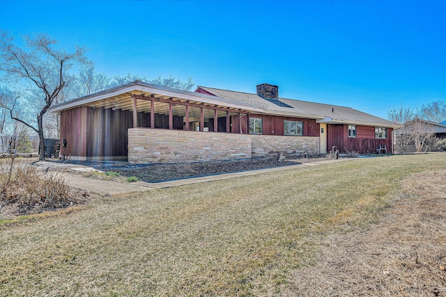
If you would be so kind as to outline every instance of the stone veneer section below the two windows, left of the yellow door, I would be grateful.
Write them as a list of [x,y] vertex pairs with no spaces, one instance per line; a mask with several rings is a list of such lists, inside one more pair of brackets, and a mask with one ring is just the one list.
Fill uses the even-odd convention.
[[313,136],[253,135],[252,156],[286,153],[319,153],[319,138]]

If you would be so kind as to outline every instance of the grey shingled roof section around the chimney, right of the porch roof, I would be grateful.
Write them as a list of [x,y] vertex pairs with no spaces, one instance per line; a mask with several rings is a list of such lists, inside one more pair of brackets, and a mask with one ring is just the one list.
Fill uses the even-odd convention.
[[199,88],[220,98],[256,106],[259,109],[263,109],[262,113],[267,114],[289,115],[301,118],[316,118],[317,122],[330,124],[401,127],[401,125],[397,125],[396,123],[390,122],[389,120],[378,118],[375,115],[363,113],[362,111],[357,111],[356,109],[351,109],[350,107],[279,98],[278,100],[280,102],[291,106],[284,107],[272,103],[270,99],[266,100],[263,97],[252,93],[221,90],[204,86],[197,87],[197,90]]

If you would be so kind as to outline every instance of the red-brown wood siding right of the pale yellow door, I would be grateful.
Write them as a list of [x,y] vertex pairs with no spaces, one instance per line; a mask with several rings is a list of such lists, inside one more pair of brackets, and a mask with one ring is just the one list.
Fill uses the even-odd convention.
[[380,145],[392,150],[392,128],[387,128],[387,138],[375,138],[375,127],[356,126],[357,137],[348,137],[348,125],[328,125],[327,149],[335,145],[340,152],[376,153]]

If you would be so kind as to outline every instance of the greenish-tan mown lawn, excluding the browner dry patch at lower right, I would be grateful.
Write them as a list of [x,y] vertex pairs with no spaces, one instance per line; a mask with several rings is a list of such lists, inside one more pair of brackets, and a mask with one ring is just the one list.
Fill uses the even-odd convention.
[[418,198],[408,179],[444,168],[385,156],[95,197],[0,225],[0,295],[298,296],[321,239],[372,228]]

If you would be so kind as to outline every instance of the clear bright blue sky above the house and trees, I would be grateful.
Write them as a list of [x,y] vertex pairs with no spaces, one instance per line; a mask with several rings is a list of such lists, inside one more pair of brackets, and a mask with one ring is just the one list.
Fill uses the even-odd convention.
[[446,1],[0,0],[0,27],[89,49],[95,70],[350,106],[446,99]]

